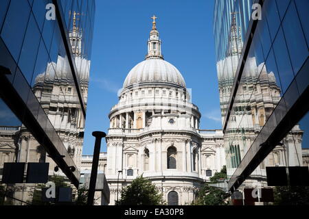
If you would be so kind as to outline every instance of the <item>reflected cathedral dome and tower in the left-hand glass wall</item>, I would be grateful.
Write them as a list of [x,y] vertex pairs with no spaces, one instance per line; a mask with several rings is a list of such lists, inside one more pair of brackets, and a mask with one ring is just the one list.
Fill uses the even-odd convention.
[[[73,12],[69,40],[78,69],[82,97],[84,103],[87,103],[90,61],[82,57],[82,30],[76,27],[76,20],[76,12]],[[33,91],[73,161],[80,168],[84,117],[65,55],[59,54],[56,63],[47,64],[46,73],[36,77]]]

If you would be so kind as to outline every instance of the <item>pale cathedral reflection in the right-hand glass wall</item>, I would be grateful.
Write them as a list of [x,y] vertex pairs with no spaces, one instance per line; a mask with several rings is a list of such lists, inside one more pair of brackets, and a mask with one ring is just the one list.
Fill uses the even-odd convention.
[[[242,23],[241,16],[243,14],[239,12],[231,13],[229,38],[226,44],[227,49],[220,48],[222,50],[217,51],[222,125],[225,125],[225,116],[231,96],[235,96],[233,108],[225,129],[225,155],[228,177],[231,177],[236,168],[238,168],[282,97],[282,89],[279,85],[276,70],[261,58],[263,57],[262,49],[255,49],[254,51],[251,49],[249,51],[249,56],[244,64],[244,70],[240,79],[240,86],[237,93],[231,95],[234,83],[236,83],[235,80],[237,79],[236,72],[239,67],[240,55],[242,55],[243,39],[246,30],[244,29],[243,31],[242,25],[240,25]],[[268,130],[271,130],[271,128],[269,127]],[[295,125],[286,138],[282,140],[282,144],[276,146],[264,159],[264,162],[255,169],[245,185],[262,185],[263,183],[265,185],[266,166],[297,166],[302,164],[302,135],[303,131],[299,129],[298,125]],[[254,180],[250,181],[250,179]]]

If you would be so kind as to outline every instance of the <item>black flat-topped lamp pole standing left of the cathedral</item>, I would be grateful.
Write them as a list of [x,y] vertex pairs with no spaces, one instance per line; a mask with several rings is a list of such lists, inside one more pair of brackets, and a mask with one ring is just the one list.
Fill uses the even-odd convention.
[[98,165],[100,158],[100,148],[101,148],[101,140],[106,137],[106,133],[102,131],[93,131],[92,136],[95,137],[95,148],[93,150],[93,160],[92,160],[92,168],[91,168],[91,177],[89,182],[89,191],[88,191],[88,199],[87,205],[93,205],[93,199],[95,194],[95,184],[97,182],[98,176]]

